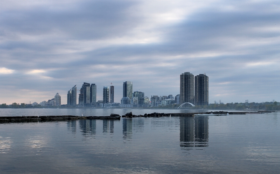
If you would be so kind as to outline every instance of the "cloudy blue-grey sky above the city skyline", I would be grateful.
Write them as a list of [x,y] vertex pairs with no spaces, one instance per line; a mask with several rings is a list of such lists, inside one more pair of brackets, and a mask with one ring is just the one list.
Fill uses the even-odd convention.
[[0,103],[67,104],[83,82],[176,96],[184,72],[209,103],[280,101],[279,21],[279,0],[1,0]]

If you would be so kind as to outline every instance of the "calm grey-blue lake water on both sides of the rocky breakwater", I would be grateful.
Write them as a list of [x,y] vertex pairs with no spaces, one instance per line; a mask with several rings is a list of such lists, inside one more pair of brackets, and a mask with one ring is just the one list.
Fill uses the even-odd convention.
[[[0,109],[0,116],[197,112]],[[279,173],[280,113],[0,124],[0,173]]]

